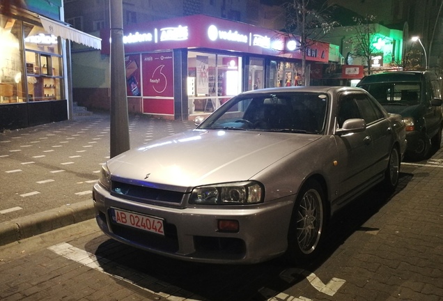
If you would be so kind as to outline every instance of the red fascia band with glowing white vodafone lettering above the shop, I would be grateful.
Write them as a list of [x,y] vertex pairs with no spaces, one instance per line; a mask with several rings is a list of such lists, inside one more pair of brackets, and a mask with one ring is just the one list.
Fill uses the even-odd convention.
[[[288,38],[284,33],[206,15],[134,24],[125,26],[124,31],[126,53],[208,48],[302,58],[295,38]],[[102,30],[100,36],[102,53],[109,54],[109,29]],[[327,63],[329,43],[313,43],[306,51],[306,59]]]

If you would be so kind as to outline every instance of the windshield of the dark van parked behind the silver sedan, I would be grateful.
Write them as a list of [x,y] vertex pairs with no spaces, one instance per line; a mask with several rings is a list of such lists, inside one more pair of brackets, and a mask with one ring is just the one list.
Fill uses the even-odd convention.
[[420,103],[418,82],[366,84],[362,88],[371,93],[381,105],[410,106]]

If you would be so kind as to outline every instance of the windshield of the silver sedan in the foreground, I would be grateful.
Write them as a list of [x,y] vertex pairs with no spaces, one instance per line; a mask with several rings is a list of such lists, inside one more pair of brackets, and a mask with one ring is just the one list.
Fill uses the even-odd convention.
[[257,130],[318,134],[325,128],[324,93],[257,93],[232,98],[200,129]]

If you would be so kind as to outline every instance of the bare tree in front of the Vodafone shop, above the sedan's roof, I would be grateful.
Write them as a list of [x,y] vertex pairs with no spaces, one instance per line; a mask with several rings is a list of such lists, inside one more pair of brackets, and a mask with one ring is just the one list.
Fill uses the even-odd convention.
[[302,53],[302,80],[306,84],[306,52],[334,27],[338,22],[331,21],[332,6],[320,0],[291,0],[283,4],[286,10],[286,32],[297,40]]

